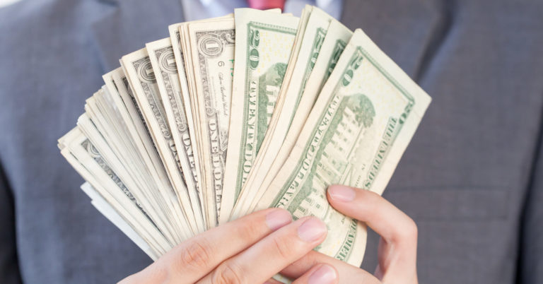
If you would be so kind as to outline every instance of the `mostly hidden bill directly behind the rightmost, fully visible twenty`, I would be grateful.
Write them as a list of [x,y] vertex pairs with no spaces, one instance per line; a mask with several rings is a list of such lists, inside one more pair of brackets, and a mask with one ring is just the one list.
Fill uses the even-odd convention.
[[[262,182],[259,182],[261,180],[259,177],[255,177],[255,184],[259,184],[258,186],[254,185],[250,187],[247,184],[247,188],[258,189],[258,191],[255,196],[252,197],[252,200],[240,198],[240,200],[243,201],[250,201],[250,206],[247,206],[247,203],[244,204],[241,202],[236,204],[236,206],[243,206],[242,208],[244,210],[242,211],[242,214],[254,210],[257,202],[262,198],[264,191],[269,187],[277,172],[281,170],[281,167],[288,158],[288,154],[291,153],[291,150],[296,143],[296,139],[305,124],[305,120],[308,118],[311,108],[313,108],[313,105],[315,104],[317,95],[320,93],[320,90],[322,90],[322,85],[324,85],[328,76],[334,70],[337,61],[343,53],[347,42],[351,39],[353,32],[339,23],[339,21],[332,20],[326,32],[325,39],[322,42],[320,35],[322,35],[321,32],[315,35],[315,45],[312,46],[313,52],[309,63],[311,69],[310,76],[307,78],[307,81],[305,81],[305,85],[303,85],[303,95],[298,104],[296,114],[294,114],[292,119],[291,126],[288,129],[286,137],[281,144],[281,148],[279,149],[279,152],[276,153],[269,170],[267,170],[267,172],[262,170],[255,172],[255,175],[261,172],[265,174]],[[316,58],[315,55],[317,55]],[[306,68],[306,70],[308,69]],[[307,73],[307,71],[304,73],[305,76],[307,76]],[[304,80],[306,78],[305,76]]]

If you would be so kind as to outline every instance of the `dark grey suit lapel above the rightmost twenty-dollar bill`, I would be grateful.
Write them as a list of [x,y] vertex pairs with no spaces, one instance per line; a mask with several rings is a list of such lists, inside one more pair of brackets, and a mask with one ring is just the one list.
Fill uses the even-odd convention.
[[[341,21],[366,34],[411,78],[424,73],[450,20],[440,1],[344,0]],[[431,58],[430,58],[431,59]]]

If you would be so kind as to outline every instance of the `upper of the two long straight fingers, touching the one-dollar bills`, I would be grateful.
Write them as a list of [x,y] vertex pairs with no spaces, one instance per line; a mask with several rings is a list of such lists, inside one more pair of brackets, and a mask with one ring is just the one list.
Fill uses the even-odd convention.
[[194,283],[225,259],[242,252],[291,221],[291,214],[283,209],[271,208],[252,213],[187,239],[155,264],[125,280],[163,283],[176,279],[182,280],[182,283]]

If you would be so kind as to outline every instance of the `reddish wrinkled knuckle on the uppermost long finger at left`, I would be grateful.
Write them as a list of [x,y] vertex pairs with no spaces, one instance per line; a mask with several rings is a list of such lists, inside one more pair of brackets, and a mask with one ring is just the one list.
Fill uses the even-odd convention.
[[202,269],[211,261],[211,247],[205,239],[198,239],[183,247],[177,256],[177,267]]

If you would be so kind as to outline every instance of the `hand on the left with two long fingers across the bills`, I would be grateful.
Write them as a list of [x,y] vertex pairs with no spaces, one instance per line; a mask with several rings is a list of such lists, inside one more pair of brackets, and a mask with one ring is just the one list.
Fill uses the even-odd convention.
[[270,208],[187,239],[120,283],[263,283],[326,234],[317,218],[292,222],[288,211]]

